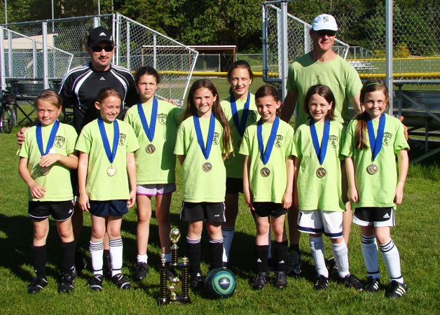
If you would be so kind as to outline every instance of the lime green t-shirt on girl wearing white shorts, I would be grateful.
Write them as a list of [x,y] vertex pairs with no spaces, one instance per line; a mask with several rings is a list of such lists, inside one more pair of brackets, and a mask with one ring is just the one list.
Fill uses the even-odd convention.
[[[324,123],[315,123],[319,146],[322,146]],[[344,211],[341,192],[341,147],[344,127],[330,122],[329,141],[324,163],[319,165],[310,134],[310,120],[299,126],[294,134],[294,155],[301,158],[297,188],[300,210]],[[326,174],[319,178],[316,170],[324,167]],[[344,174],[345,175],[345,174]]]

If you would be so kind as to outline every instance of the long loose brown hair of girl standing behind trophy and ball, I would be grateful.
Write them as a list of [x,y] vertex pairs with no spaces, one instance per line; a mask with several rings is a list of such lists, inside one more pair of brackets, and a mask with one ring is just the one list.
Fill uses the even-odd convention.
[[195,91],[203,87],[211,91],[212,95],[216,97],[214,104],[212,104],[212,113],[214,113],[214,117],[220,121],[220,125],[221,127],[223,127],[223,147],[226,155],[229,155],[229,153],[231,153],[231,143],[233,141],[231,127],[229,127],[228,120],[226,119],[225,114],[221,109],[219,93],[217,92],[214,83],[212,83],[210,80],[208,79],[196,80],[193,83],[193,85],[191,85],[191,88],[189,89],[188,92],[188,98],[186,99],[186,108],[184,111],[183,120],[191,116],[198,116],[197,109],[195,109],[195,104],[194,104],[194,94]]

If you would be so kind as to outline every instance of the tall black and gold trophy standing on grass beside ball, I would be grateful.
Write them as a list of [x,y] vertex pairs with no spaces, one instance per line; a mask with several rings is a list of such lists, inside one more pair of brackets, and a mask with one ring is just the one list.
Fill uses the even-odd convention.
[[[182,258],[179,262],[177,242],[180,239],[180,231],[178,228],[172,228],[170,231],[171,246],[171,263],[170,267],[174,270],[180,271],[180,277],[167,277],[167,265],[165,258],[160,260],[160,296],[158,297],[158,304],[171,303],[191,303],[189,297],[189,264],[188,258]],[[180,289],[180,295],[178,295]]]

